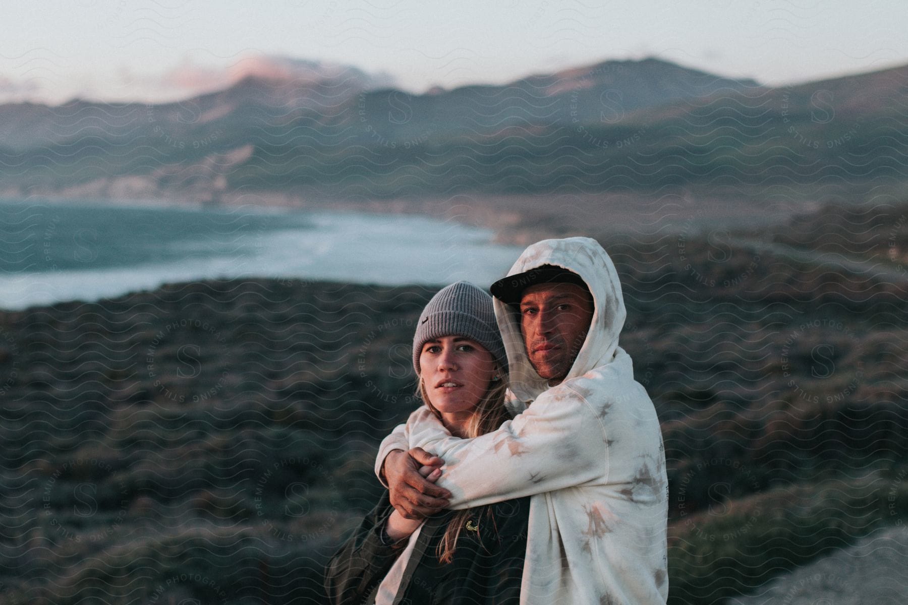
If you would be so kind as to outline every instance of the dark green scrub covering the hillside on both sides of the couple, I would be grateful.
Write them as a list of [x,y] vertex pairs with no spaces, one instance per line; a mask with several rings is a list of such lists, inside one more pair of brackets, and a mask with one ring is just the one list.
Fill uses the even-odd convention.
[[[607,242],[663,421],[673,605],[908,518],[905,280],[711,235]],[[0,605],[321,602],[417,405],[431,293],[212,281],[0,315]]]

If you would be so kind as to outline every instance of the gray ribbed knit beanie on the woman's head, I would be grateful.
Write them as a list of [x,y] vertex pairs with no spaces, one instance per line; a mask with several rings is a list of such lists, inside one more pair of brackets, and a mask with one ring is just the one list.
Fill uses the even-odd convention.
[[508,371],[508,357],[495,320],[492,297],[469,281],[441,288],[422,309],[413,335],[416,376],[419,376],[419,354],[426,341],[451,336],[467,337],[485,346],[501,370]]

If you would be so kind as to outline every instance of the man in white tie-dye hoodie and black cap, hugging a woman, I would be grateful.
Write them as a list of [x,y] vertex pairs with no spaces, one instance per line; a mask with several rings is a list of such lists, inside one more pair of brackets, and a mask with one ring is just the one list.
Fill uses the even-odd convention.
[[[521,602],[664,603],[665,452],[618,346],[615,266],[593,239],[547,239],[491,291],[519,414],[458,439],[420,407],[381,444],[391,503],[416,518],[532,495]],[[442,460],[437,485],[414,476]]]

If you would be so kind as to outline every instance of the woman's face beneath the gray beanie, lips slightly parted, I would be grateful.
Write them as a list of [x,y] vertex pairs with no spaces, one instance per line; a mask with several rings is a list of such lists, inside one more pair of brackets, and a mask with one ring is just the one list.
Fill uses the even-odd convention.
[[419,354],[419,377],[442,415],[472,412],[495,376],[492,354],[465,337],[429,340]]

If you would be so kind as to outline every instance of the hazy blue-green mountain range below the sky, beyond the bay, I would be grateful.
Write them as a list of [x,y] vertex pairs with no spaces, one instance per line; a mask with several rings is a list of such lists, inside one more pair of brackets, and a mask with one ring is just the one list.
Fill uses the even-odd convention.
[[902,180],[908,65],[768,87],[655,58],[410,94],[359,70],[164,104],[0,106],[7,195],[337,197]]

